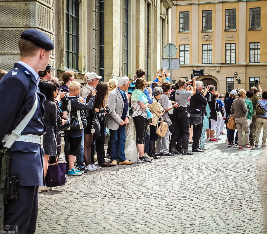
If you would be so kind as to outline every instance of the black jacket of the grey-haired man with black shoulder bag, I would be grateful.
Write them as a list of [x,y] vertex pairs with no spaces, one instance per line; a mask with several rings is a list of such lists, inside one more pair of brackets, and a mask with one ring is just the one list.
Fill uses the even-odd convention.
[[208,101],[201,92],[198,90],[190,99],[190,114],[199,114],[205,115],[206,105]]

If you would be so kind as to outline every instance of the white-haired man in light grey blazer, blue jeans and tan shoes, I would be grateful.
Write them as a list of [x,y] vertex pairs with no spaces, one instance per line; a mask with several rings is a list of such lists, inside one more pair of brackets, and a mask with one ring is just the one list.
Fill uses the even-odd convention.
[[118,87],[111,91],[108,96],[108,107],[111,111],[106,117],[106,126],[109,129],[109,141],[111,152],[111,164],[133,164],[126,160],[125,149],[125,124],[129,123],[129,99],[126,91],[130,85],[128,77],[118,79]]

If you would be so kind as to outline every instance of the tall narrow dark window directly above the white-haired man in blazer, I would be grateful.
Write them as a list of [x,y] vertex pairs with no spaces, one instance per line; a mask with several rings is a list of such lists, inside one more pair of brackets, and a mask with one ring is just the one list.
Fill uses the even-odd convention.
[[123,73],[128,76],[128,30],[129,30],[129,0],[124,0],[124,58],[123,58]]

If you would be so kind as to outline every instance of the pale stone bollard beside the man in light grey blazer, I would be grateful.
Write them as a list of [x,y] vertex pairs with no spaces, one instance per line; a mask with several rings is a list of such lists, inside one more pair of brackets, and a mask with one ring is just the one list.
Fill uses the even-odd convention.
[[136,146],[135,123],[131,115],[129,116],[129,124],[126,125],[125,131],[125,157],[131,162],[137,162],[139,155]]

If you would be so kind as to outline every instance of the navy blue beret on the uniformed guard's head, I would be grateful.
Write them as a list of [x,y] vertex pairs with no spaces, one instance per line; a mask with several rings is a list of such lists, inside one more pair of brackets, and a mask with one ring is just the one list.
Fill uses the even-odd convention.
[[24,31],[21,34],[20,38],[32,41],[33,43],[44,48],[45,50],[54,49],[53,42],[50,40],[50,38],[45,33],[36,29],[28,29]]

